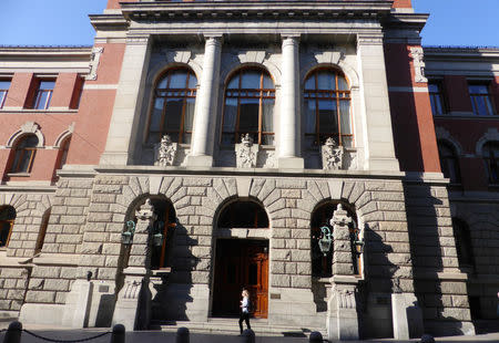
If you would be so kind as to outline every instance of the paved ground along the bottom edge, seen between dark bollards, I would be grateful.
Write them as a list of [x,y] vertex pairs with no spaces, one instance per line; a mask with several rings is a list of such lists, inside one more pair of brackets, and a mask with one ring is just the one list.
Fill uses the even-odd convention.
[[[55,339],[55,340],[79,340],[85,337],[92,337],[100,333],[110,331],[109,329],[84,329],[84,330],[54,330],[54,329],[41,329],[28,326],[28,330],[34,332],[38,335]],[[0,342],[3,342],[4,333],[0,333]],[[105,336],[91,340],[88,342],[91,343],[109,343],[111,339],[111,334]],[[452,336],[452,337],[437,337],[437,342],[499,342],[499,333],[491,333],[485,335],[476,335],[476,336]],[[37,339],[30,335],[27,332],[22,333],[21,343],[41,343],[43,340]],[[159,332],[159,331],[141,331],[141,332],[128,332],[126,333],[126,343],[174,343],[175,342],[175,333],[171,332]],[[214,334],[200,334],[193,333],[191,334],[191,343],[237,343],[241,342],[241,337],[235,335],[214,335]],[[307,337],[259,337],[257,336],[255,343],[306,343],[308,342]],[[339,342],[339,341],[337,341]],[[410,341],[396,341],[396,340],[366,340],[366,341],[344,341],[349,343],[359,343],[359,342],[419,342],[419,340],[410,340]]]

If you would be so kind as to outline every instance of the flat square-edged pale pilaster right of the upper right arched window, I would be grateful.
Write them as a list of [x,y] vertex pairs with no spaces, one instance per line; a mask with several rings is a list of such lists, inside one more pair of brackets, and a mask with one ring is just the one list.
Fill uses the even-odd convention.
[[357,56],[364,98],[365,168],[399,172],[395,157],[383,34],[358,35]]

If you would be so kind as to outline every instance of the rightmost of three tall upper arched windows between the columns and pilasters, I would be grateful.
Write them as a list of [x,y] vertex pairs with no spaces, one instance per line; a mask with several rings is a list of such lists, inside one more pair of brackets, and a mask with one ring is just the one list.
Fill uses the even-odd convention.
[[305,80],[305,144],[313,147],[334,137],[339,145],[353,146],[350,91],[336,70],[318,69]]

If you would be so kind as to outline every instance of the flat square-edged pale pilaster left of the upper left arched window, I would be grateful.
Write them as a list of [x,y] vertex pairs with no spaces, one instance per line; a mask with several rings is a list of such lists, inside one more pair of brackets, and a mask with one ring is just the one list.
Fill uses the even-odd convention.
[[150,54],[150,37],[128,39],[101,165],[122,166],[132,162]]

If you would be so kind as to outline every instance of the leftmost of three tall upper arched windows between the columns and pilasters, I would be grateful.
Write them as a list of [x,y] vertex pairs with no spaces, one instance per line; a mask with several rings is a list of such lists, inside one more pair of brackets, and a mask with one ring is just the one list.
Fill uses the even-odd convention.
[[159,143],[163,135],[191,143],[196,85],[196,76],[186,67],[170,69],[162,75],[154,89],[147,143]]

